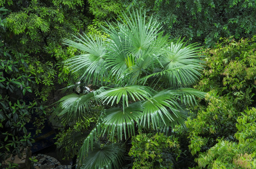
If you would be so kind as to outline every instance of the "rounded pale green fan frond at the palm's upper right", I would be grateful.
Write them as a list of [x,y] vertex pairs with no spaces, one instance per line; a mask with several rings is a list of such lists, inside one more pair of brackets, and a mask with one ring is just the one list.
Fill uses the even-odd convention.
[[202,61],[199,58],[201,54],[200,46],[197,43],[184,46],[184,39],[178,39],[176,43],[171,42],[170,46],[166,47],[166,53],[160,55],[159,60],[163,65],[163,70],[177,68],[174,72],[165,74],[170,86],[191,85],[195,83],[200,76],[199,70],[202,69]]

